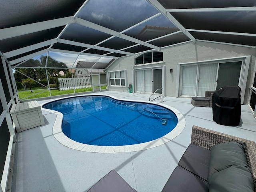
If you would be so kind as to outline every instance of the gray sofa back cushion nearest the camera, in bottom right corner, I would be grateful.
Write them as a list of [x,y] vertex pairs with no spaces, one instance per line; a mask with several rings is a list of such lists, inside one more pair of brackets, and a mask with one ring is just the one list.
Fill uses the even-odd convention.
[[209,192],[254,192],[248,167],[231,166],[209,177]]

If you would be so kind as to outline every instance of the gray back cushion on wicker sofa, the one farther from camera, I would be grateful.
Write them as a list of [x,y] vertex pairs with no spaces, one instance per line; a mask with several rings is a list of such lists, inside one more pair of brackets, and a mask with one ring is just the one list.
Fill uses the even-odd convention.
[[248,166],[242,143],[226,142],[211,148],[209,176],[235,165]]

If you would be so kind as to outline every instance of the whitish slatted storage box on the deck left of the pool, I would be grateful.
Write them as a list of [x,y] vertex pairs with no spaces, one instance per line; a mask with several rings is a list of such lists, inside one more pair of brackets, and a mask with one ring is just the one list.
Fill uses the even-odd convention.
[[44,125],[44,116],[37,101],[14,104],[10,114],[17,132]]

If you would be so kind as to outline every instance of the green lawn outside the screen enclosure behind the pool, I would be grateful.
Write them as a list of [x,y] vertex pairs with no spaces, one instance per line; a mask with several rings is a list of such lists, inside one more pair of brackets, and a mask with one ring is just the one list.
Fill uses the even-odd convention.
[[[101,86],[101,89],[106,89],[107,86]],[[44,91],[44,92],[42,92]],[[76,89],[76,93],[79,92],[87,92],[87,91],[92,91],[92,87],[90,88],[81,88],[81,89]],[[41,92],[41,93],[40,93]],[[56,96],[56,95],[64,95],[64,94],[72,94],[74,93],[74,90],[63,90],[63,91],[59,91],[57,89],[52,89],[51,90],[51,94],[52,96]],[[30,92],[30,90],[27,91],[18,91],[19,94],[19,98],[22,100],[24,98],[24,100],[26,99],[34,99],[34,98],[40,98],[40,97],[49,97],[50,96],[50,92],[47,89],[41,89],[41,90],[32,90],[32,93]]]

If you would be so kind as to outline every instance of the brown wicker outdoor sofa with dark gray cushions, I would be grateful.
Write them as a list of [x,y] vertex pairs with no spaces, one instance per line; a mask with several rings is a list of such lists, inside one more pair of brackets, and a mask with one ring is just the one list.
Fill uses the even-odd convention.
[[[233,157],[219,155],[216,160],[216,150],[221,146],[226,153],[227,145],[243,146],[239,155],[244,156],[245,164],[232,164]],[[226,148],[223,148],[225,146]],[[224,150],[223,150],[224,149]],[[232,153],[236,150],[232,148]],[[239,150],[238,150],[239,151]],[[214,154],[215,152],[215,154]],[[221,153],[220,153],[221,154]],[[215,155],[215,156],[214,156]],[[214,160],[213,160],[214,159]],[[227,161],[222,161],[226,159]],[[240,161],[242,158],[235,159]],[[242,161],[242,160],[241,160]],[[227,163],[224,168],[222,164]],[[231,164],[230,164],[231,163]],[[242,162],[244,163],[244,162]],[[214,173],[209,175],[213,170]],[[240,173],[242,172],[242,173]],[[245,174],[244,174],[245,173]],[[192,126],[191,144],[186,149],[178,166],[172,172],[162,192],[256,192],[256,143],[243,138]]]

